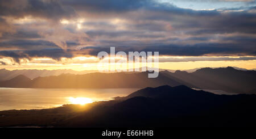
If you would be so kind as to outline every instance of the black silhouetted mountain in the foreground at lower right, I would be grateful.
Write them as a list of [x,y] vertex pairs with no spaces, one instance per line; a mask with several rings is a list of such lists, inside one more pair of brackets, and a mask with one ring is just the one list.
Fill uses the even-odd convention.
[[147,87],[102,103],[60,127],[240,127],[256,124],[256,95],[216,95],[186,86]]

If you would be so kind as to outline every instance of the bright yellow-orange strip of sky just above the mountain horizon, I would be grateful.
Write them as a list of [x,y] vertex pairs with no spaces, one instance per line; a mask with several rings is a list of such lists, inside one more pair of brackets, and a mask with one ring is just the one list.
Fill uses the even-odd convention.
[[[172,57],[173,58],[173,57]],[[172,60],[182,61],[186,57],[175,57]],[[161,58],[160,58],[161,60]],[[35,58],[34,60],[23,60],[20,64],[11,63],[11,60],[3,60],[7,65],[0,65],[0,68],[9,70],[15,69],[72,69],[72,70],[98,70],[98,60],[96,57],[76,57],[63,58],[61,61],[55,61],[51,58]],[[10,62],[10,63],[9,63]],[[9,63],[9,64],[8,64]],[[109,64],[110,65],[110,64]],[[256,69],[256,60],[230,60],[230,61],[185,61],[185,62],[159,62],[160,69],[187,70],[204,67],[226,67],[236,66],[238,68]]]

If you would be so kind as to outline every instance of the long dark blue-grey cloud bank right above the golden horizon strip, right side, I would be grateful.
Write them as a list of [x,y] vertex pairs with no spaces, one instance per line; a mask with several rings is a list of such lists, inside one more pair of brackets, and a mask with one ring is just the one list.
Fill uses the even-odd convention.
[[[89,54],[97,56],[98,52],[105,51],[110,53],[110,48],[107,47],[85,47]],[[193,45],[155,45],[147,47],[115,47],[116,52],[124,51],[144,51],[144,52],[159,52],[160,55],[171,56],[256,56],[256,48],[242,48],[240,45],[230,43],[199,43]]]

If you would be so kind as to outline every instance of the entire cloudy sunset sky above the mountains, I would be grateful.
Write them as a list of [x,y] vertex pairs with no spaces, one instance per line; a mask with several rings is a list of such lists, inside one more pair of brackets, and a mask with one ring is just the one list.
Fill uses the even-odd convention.
[[159,68],[256,69],[253,0],[0,0],[0,68],[96,70],[97,53],[159,52]]

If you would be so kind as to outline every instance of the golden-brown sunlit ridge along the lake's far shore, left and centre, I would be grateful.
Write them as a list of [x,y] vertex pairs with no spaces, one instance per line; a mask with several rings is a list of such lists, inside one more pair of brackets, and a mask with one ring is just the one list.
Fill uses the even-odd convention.
[[[23,83],[22,87],[32,88],[122,88],[181,85],[160,74],[158,78],[147,78],[148,73],[89,73],[84,75],[61,74],[59,76],[38,77]],[[1,87],[16,87],[9,81],[0,82]],[[22,79],[20,79],[22,81]],[[19,82],[15,82],[19,84]]]

